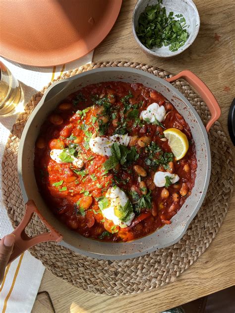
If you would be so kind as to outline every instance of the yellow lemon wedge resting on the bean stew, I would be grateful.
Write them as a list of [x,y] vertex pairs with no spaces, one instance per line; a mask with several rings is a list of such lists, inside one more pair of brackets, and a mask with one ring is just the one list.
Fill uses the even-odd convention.
[[176,161],[182,159],[188,151],[186,135],[177,128],[168,128],[163,133],[168,139],[168,144],[176,157]]

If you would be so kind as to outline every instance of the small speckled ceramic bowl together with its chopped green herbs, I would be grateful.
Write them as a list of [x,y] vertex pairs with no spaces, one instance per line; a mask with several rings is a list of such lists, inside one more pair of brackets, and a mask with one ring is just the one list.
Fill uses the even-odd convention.
[[132,32],[141,49],[169,58],[186,50],[196,39],[200,17],[193,0],[138,0]]

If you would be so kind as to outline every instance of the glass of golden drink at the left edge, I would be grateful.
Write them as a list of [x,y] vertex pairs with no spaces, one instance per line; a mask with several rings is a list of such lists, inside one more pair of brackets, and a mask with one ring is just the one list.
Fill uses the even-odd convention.
[[17,79],[0,62],[0,116],[12,115],[23,109],[23,92]]

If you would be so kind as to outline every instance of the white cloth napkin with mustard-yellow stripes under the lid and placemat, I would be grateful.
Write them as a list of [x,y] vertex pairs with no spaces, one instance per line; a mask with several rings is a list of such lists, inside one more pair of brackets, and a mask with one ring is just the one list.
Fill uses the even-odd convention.
[[[62,64],[50,68],[31,67],[7,61],[0,57],[12,72],[13,76],[21,82],[25,103],[38,90],[41,90],[51,80],[57,78],[64,71],[91,63],[93,51],[69,64]],[[15,123],[17,115],[0,117],[0,162],[5,143],[10,130]],[[6,209],[2,202],[1,175],[0,175],[0,238],[13,230]],[[0,286],[0,313],[30,313],[37,296],[45,267],[28,251],[7,266],[4,280]]]

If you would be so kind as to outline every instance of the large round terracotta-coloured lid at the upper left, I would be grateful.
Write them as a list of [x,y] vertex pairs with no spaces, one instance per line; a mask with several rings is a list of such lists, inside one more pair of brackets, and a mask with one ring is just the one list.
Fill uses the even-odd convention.
[[0,55],[34,66],[74,61],[113,27],[122,0],[1,0]]

